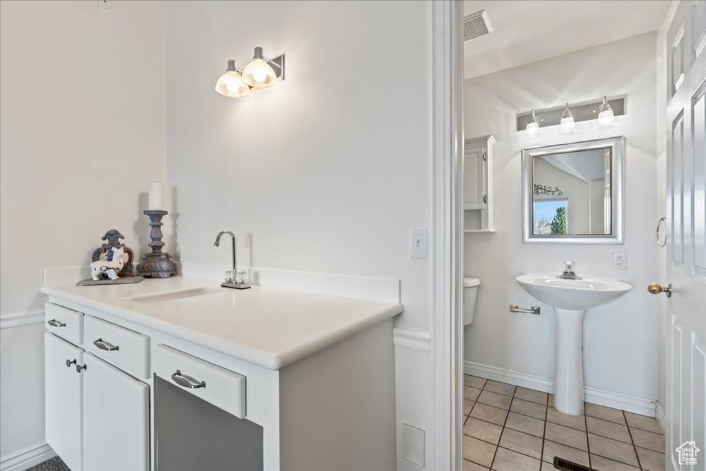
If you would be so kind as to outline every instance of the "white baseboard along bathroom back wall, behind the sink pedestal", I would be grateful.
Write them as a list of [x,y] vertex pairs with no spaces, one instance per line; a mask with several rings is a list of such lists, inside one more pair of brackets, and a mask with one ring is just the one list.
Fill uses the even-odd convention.
[[[492,379],[493,381],[514,384],[515,386],[522,386],[522,388],[541,390],[545,393],[554,393],[554,380],[552,378],[534,376],[533,374],[525,374],[518,371],[511,371],[508,369],[498,368],[496,366],[488,366],[468,361],[464,362],[464,364],[464,371],[466,374]],[[587,403],[613,407],[614,409],[633,412],[640,415],[647,415],[648,417],[654,417],[655,415],[656,401],[638,398],[633,395],[616,393],[614,391],[599,388],[585,387],[584,399]]]

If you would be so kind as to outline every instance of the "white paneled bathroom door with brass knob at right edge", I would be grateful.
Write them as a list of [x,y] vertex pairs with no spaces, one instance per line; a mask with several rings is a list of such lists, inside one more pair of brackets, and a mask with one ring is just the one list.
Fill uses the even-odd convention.
[[[667,470],[706,469],[705,31],[706,2],[682,1],[666,36]],[[677,451],[686,442],[700,450],[696,464]]]

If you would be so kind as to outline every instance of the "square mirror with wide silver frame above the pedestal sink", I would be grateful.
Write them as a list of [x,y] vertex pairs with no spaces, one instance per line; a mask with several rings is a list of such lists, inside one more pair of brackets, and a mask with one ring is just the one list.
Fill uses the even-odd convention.
[[522,242],[623,244],[625,137],[522,150]]

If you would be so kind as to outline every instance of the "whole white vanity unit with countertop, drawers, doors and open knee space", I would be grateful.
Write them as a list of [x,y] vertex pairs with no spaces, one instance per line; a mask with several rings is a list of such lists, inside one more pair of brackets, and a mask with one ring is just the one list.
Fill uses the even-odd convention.
[[174,278],[42,289],[47,443],[72,471],[395,468],[400,304],[258,286],[197,310],[136,301],[203,289]]

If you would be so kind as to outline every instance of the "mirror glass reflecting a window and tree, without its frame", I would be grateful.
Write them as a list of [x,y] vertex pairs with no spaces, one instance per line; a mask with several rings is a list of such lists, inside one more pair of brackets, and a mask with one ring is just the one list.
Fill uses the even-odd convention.
[[611,148],[532,158],[532,234],[611,234]]

